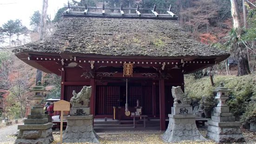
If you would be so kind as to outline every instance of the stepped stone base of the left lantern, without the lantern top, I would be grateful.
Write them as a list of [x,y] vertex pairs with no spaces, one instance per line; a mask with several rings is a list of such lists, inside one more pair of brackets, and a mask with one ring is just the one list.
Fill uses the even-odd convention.
[[18,125],[20,131],[14,144],[50,144],[53,142],[52,127],[43,108],[32,108],[24,124]]

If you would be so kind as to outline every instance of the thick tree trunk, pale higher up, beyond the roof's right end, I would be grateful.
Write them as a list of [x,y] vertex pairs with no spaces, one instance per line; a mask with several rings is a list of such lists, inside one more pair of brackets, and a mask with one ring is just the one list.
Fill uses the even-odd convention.
[[233,46],[238,50],[238,72],[239,75],[246,75],[250,73],[249,61],[247,57],[247,48],[245,46],[237,44],[237,41],[241,39],[243,29],[241,26],[240,15],[237,6],[237,0],[230,0],[231,2],[231,14],[233,17],[233,27],[236,30],[236,40],[233,41]]

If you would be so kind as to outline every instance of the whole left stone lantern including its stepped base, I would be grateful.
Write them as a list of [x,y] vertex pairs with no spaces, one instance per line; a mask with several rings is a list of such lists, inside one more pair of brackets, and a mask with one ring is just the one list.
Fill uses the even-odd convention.
[[30,115],[24,119],[24,124],[18,125],[19,134],[14,144],[50,144],[53,142],[53,123],[48,123],[48,116],[44,114],[41,101],[44,99],[45,87],[41,85],[33,86],[29,91],[34,92],[35,101],[31,108]]

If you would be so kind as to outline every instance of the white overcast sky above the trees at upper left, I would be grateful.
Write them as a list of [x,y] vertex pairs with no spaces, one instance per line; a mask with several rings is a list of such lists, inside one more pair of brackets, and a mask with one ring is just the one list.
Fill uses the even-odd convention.
[[[68,0],[48,0],[47,14],[53,20],[58,9]],[[13,4],[11,4],[13,3]],[[41,13],[43,0],[0,0],[0,26],[8,20],[22,20],[22,24],[30,28],[30,17],[34,11]]]

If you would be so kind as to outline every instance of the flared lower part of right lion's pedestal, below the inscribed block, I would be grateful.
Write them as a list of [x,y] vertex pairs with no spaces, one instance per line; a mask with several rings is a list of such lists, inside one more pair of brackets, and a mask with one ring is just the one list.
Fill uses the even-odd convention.
[[197,130],[195,116],[193,118],[175,118],[175,115],[169,115],[169,124],[167,130],[164,132],[163,140],[164,142],[170,143],[184,140],[205,141],[206,139]]

